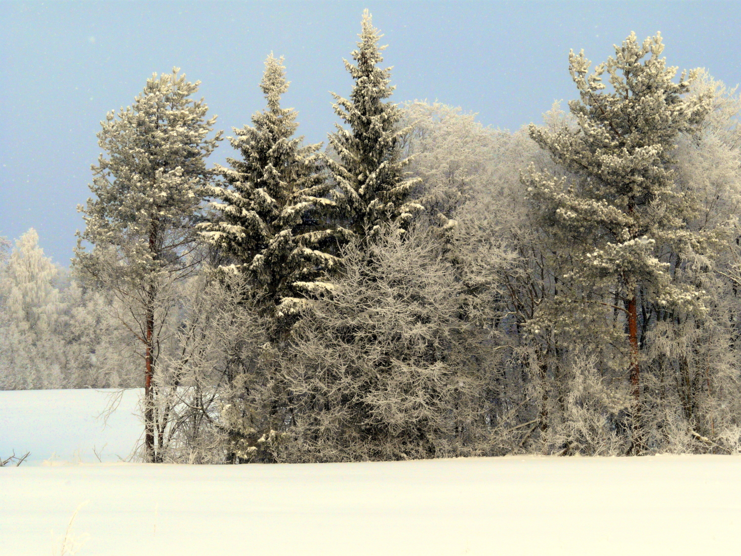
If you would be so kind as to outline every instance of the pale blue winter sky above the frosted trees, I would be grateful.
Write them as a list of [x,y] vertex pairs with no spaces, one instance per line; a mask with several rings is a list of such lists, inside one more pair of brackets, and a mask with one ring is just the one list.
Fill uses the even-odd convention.
[[[265,106],[265,58],[285,56],[282,105],[299,110],[299,134],[326,144],[338,121],[329,92],[350,92],[342,59],[364,8],[388,44],[393,101],[437,100],[494,128],[540,122],[554,100],[575,98],[569,50],[597,64],[631,31],[660,31],[680,71],[741,82],[737,1],[1,0],[0,236],[36,228],[44,253],[69,265],[101,120],[174,66],[202,82],[228,136]],[[227,156],[224,141],[208,164]]]

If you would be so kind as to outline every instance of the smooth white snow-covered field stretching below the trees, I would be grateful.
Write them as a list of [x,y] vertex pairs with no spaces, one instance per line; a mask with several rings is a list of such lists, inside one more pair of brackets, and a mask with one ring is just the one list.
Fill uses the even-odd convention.
[[0,469],[0,555],[59,555],[76,509],[79,556],[741,554],[741,457],[98,463],[90,442],[125,457],[139,437],[136,392],[105,431],[101,400],[0,392],[0,455],[59,456]]

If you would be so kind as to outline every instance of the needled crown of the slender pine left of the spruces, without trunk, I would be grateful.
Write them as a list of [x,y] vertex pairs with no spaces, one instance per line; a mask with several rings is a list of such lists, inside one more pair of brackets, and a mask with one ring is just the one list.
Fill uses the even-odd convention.
[[[211,175],[205,158],[221,132],[208,137],[216,116],[207,119],[203,99],[190,98],[200,82],[188,82],[179,71],[153,74],[133,105],[107,113],[101,122],[98,139],[105,152],[91,167],[95,198],[78,207],[86,224],[77,234],[79,270],[102,272],[98,255],[109,248],[134,274],[173,268],[170,263],[187,253]],[[82,241],[98,254],[87,252]]]

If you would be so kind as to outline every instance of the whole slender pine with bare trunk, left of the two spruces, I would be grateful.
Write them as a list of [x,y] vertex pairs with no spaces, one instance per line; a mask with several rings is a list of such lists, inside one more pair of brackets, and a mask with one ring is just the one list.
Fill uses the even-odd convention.
[[220,139],[208,137],[216,117],[206,119],[205,102],[190,98],[199,82],[178,72],[155,74],[132,106],[102,122],[105,154],[92,167],[95,198],[79,208],[86,228],[73,261],[82,277],[116,295],[119,321],[142,347],[150,461],[159,461],[152,379],[177,282],[196,268],[194,226],[210,178],[205,159]]

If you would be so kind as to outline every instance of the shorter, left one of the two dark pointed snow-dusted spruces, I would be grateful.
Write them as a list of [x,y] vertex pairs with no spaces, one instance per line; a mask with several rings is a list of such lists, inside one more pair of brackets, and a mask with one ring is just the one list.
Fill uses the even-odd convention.
[[322,277],[337,265],[336,236],[346,235],[325,218],[333,202],[317,165],[321,145],[302,145],[303,137],[294,136],[296,111],[280,106],[289,85],[282,62],[272,54],[265,61],[260,88],[268,107],[253,114],[253,127],[234,128],[230,143],[242,159],[228,159],[230,168],[217,166],[225,183],[208,190],[217,199],[216,214],[199,225],[226,255],[222,271],[253,286],[251,295],[276,334],[286,325],[279,317],[330,287]]

